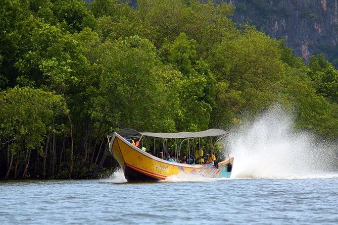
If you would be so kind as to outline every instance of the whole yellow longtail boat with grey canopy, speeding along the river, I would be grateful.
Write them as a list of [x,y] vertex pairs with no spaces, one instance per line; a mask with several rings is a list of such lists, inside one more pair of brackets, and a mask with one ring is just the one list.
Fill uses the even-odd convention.
[[[186,150],[189,148],[189,141],[191,143],[191,140],[198,139],[200,141],[200,138],[210,137],[212,139],[213,137],[214,139],[217,138],[216,142],[218,142],[226,137],[227,134],[227,132],[220,129],[179,133],[150,133],[122,129],[108,135],[108,142],[109,150],[120,164],[128,182],[165,180],[167,177],[178,175],[179,173],[197,174],[206,178],[229,178],[232,171],[233,157],[229,157],[228,153],[225,160],[216,161],[213,164],[179,163],[155,156],[159,151],[163,151],[155,148],[155,141],[159,139],[161,141],[158,141],[157,144],[158,146],[162,144],[162,149],[167,147],[167,140],[174,141],[177,156],[177,153],[181,152],[183,143],[186,146]],[[152,140],[154,140],[154,143]],[[145,146],[150,143],[152,143],[153,149],[147,152],[146,149],[149,149],[149,147],[146,148]],[[214,146],[215,144],[212,145],[211,153]]]

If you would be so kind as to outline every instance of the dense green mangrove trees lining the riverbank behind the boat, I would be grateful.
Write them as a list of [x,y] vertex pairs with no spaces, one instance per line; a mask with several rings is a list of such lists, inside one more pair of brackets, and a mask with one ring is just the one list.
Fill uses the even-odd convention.
[[1,1],[0,178],[95,177],[113,130],[229,129],[276,103],[336,140],[338,71],[204,2]]

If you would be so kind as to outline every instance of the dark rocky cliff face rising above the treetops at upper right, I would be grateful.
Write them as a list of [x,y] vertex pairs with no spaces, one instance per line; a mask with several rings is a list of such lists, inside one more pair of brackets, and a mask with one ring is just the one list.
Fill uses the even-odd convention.
[[255,25],[271,37],[286,40],[308,62],[325,53],[338,66],[338,0],[227,0],[236,7],[233,21]]

